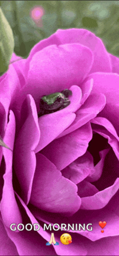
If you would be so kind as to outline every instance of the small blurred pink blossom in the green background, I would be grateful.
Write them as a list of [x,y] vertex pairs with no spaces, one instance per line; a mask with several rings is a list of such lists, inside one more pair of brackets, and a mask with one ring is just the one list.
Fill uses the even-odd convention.
[[36,23],[38,27],[43,27],[42,16],[45,14],[45,10],[42,6],[34,6],[30,10],[30,17]]

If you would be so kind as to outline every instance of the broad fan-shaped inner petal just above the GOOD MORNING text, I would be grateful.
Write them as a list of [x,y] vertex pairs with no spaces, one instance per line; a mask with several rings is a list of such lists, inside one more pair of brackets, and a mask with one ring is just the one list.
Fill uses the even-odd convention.
[[30,202],[44,211],[68,215],[78,211],[81,205],[77,186],[65,179],[55,165],[40,153],[36,154]]

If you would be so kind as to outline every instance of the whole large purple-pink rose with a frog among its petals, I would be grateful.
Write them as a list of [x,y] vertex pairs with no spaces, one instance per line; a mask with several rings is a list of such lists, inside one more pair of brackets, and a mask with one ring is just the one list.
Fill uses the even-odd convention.
[[[0,135],[11,149],[0,147],[1,255],[118,255],[119,59],[88,30],[57,30],[26,60],[13,54],[0,83]],[[41,98],[65,89],[70,104],[44,112]],[[51,232],[58,246],[46,246]]]

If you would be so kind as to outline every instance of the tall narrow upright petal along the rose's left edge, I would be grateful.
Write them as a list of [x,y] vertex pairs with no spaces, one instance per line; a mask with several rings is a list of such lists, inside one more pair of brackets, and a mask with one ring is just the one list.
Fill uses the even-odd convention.
[[[13,149],[14,147],[14,138],[15,116],[14,113],[10,110],[9,123],[5,130],[4,142],[11,149]],[[3,148],[3,155],[6,169],[5,174],[3,176],[4,186],[1,200],[1,214],[4,224],[7,227],[10,227],[11,223],[22,223],[22,217],[17,206],[17,202],[14,195],[14,189],[12,187],[12,152],[7,148]]]

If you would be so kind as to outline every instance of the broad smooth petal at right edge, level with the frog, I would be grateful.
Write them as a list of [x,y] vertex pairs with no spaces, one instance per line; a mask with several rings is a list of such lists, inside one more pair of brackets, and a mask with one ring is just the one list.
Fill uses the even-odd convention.
[[[118,133],[118,97],[119,97],[119,75],[117,74],[106,74],[106,73],[95,73],[91,74],[89,78],[94,79],[94,86],[92,88],[91,94],[94,93],[103,93],[106,97],[106,104],[103,110],[98,114],[107,118],[115,127],[117,134]],[[88,78],[88,79],[89,79]]]

